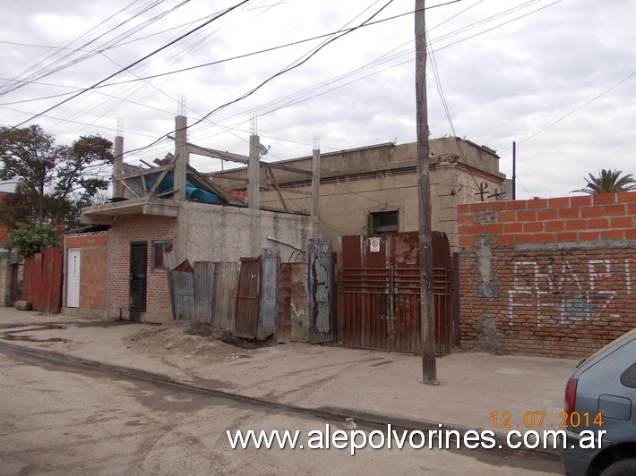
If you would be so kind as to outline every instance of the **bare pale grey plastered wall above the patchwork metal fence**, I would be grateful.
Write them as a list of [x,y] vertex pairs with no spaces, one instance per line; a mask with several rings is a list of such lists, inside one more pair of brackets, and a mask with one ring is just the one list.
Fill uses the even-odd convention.
[[[302,215],[217,206],[186,201],[179,210],[179,259],[238,261],[258,256],[262,248],[279,248],[280,259],[306,261],[305,253],[272,242],[268,236],[303,250],[312,237],[314,220]],[[296,259],[298,257],[298,259]]]

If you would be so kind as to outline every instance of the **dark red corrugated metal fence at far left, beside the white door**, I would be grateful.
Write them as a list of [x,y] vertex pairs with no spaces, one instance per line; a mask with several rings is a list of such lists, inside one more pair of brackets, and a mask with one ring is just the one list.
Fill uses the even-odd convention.
[[25,260],[22,300],[44,313],[62,309],[62,275],[64,252],[61,247],[31,255]]

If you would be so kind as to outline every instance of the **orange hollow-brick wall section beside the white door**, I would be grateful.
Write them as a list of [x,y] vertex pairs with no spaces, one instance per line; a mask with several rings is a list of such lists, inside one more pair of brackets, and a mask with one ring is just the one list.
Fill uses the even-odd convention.
[[69,234],[66,249],[80,248],[80,309],[106,310],[108,235]]

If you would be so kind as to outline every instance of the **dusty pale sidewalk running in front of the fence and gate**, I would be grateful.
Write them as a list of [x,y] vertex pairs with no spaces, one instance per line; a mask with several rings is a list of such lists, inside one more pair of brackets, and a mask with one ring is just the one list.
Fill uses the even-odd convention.
[[[439,385],[433,387],[421,383],[418,355],[311,344],[245,350],[186,336],[184,328],[0,308],[3,349],[411,429],[441,423],[445,429],[492,429],[501,437],[508,431],[501,428],[503,412],[510,412],[510,429],[558,429],[565,384],[577,363],[452,353],[437,359]],[[545,412],[541,427],[537,412]],[[524,416],[526,423],[535,417],[533,427]]]

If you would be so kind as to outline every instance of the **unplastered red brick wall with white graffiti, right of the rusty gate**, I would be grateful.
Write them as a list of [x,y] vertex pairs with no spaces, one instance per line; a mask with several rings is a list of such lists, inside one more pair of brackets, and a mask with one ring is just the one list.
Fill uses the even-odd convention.
[[463,346],[587,356],[636,327],[636,192],[458,212]]

